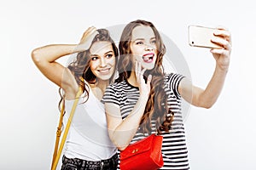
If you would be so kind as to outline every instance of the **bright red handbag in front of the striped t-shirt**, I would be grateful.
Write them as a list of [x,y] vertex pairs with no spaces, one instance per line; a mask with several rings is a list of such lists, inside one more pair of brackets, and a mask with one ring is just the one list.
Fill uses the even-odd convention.
[[120,151],[120,170],[155,170],[164,166],[163,137],[151,134]]

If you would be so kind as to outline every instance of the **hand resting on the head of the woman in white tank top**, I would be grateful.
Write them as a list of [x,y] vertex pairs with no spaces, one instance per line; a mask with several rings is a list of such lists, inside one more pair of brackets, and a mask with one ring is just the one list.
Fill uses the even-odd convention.
[[93,38],[96,37],[98,33],[99,32],[96,31],[96,27],[94,26],[90,26],[86,31],[84,31],[83,37],[77,47],[78,51],[85,51],[89,49]]

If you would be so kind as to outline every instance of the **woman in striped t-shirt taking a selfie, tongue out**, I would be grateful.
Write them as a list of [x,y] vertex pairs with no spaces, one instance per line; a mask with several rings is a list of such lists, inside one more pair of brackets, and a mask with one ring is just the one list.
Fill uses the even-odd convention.
[[[206,89],[195,87],[187,77],[165,74],[166,47],[155,26],[135,20],[125,26],[119,42],[119,78],[102,98],[108,133],[119,150],[151,133],[163,136],[161,169],[189,169],[181,99],[210,108],[218,99],[230,64],[230,32],[218,29],[211,49],[216,68]],[[143,167],[142,167],[143,168]]]

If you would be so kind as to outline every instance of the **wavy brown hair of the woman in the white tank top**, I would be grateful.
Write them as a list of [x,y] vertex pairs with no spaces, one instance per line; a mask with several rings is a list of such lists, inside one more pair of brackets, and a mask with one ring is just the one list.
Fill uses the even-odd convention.
[[[119,50],[116,47],[115,43],[113,42],[113,39],[110,37],[109,31],[106,29],[97,29],[98,34],[91,42],[91,45],[94,42],[111,42],[113,53],[115,56],[115,62],[117,63],[119,58]],[[90,48],[91,48],[90,45]],[[97,77],[92,73],[90,70],[90,48],[79,52],[76,56],[76,59],[73,60],[69,65],[67,65],[67,68],[73,73],[73,76],[75,77],[76,82],[81,86],[83,92],[85,91],[84,97],[86,97],[85,101],[89,98],[89,87],[86,83],[84,83],[84,80],[86,82],[89,82],[90,84],[95,84],[97,82]],[[82,77],[82,78],[81,78]],[[109,83],[113,82],[114,74],[109,79]],[[61,89],[59,90],[59,94],[61,95],[61,100],[59,102],[59,108],[61,105],[61,101],[64,99],[65,94],[61,94]]]

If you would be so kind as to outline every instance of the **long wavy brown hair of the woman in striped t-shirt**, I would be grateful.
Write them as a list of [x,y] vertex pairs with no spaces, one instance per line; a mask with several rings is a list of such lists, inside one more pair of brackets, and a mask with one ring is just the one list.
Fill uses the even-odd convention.
[[160,37],[159,31],[157,31],[151,22],[146,20],[134,20],[125,26],[119,41],[119,78],[115,82],[122,82],[131,76],[133,62],[131,60],[132,54],[130,44],[132,31],[137,26],[150,26],[152,28],[157,48],[157,59],[155,61],[154,68],[150,71],[145,71],[144,73],[144,79],[146,80],[146,77],[151,74],[152,81],[148,102],[140,124],[143,133],[151,133],[151,120],[154,118],[156,120],[158,133],[161,133],[161,131],[168,132],[171,127],[174,114],[167,106],[167,95],[164,87],[165,74],[162,61],[164,54],[166,54],[166,46]]

